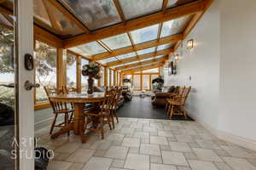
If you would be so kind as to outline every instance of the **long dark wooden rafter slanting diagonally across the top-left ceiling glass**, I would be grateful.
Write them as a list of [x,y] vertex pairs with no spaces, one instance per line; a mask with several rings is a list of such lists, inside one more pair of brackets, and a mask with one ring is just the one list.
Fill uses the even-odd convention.
[[85,31],[86,34],[90,33],[90,30],[86,26],[84,26],[84,24],[61,3],[55,0],[47,0],[47,1],[51,3],[55,8],[57,8],[62,14],[64,14],[68,20],[73,20],[75,25],[77,25],[81,30]]

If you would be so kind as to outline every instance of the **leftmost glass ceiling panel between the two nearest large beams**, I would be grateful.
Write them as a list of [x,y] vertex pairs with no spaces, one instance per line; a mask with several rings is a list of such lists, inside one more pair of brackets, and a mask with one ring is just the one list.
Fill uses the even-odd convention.
[[105,48],[102,48],[102,46],[97,42],[85,43],[84,45],[80,45],[78,47],[70,49],[84,56],[102,54],[104,52],[107,52],[107,50]]

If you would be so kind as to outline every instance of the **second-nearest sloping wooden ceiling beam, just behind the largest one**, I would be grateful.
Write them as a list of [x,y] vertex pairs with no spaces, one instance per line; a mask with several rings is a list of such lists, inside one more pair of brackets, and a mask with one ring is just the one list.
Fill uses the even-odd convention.
[[150,42],[143,42],[143,43],[135,45],[134,48],[132,46],[127,47],[127,48],[119,48],[119,49],[113,50],[112,53],[95,54],[95,55],[92,55],[91,57],[94,60],[108,59],[108,58],[118,56],[121,54],[128,54],[128,53],[135,52],[135,51],[138,51],[141,49],[152,48],[152,47],[162,45],[165,43],[177,42],[179,40],[182,40],[182,38],[183,38],[182,34],[177,34],[177,35],[169,36],[169,37],[162,37],[162,38],[160,38],[159,41],[153,40]]

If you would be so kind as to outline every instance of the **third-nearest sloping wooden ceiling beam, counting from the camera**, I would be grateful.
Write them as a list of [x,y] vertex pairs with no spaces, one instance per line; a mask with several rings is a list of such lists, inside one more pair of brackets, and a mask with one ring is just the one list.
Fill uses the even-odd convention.
[[143,54],[143,55],[139,55],[139,56],[136,56],[136,57],[131,57],[131,58],[128,58],[128,59],[122,59],[122,60],[119,60],[119,61],[109,62],[109,63],[107,63],[107,65],[109,67],[114,66],[114,65],[122,65],[122,64],[130,63],[130,62],[141,60],[141,59],[153,58],[154,56],[172,54],[172,52],[173,52],[172,49],[164,49],[164,50],[158,51],[156,54],[155,53]]

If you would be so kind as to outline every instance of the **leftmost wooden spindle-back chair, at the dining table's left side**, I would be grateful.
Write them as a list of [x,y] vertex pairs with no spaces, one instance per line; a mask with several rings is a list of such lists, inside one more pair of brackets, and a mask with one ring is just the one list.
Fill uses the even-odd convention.
[[[50,130],[49,130],[49,134],[52,133],[54,127],[65,127],[67,126],[68,123],[71,122],[72,120],[72,116],[69,117],[69,113],[72,113],[73,115],[73,109],[68,107],[67,106],[67,103],[66,102],[53,102],[53,101],[50,101],[50,95],[53,95],[53,94],[63,94],[63,91],[61,90],[56,90],[55,88],[46,88],[44,87],[44,90],[49,98],[49,103],[53,109],[53,113],[55,114],[55,118],[54,118],[54,121],[52,122],[51,124],[51,127],[50,127]],[[56,125],[56,120],[57,120],[57,117],[59,115],[63,115],[64,114],[64,122],[61,122],[59,124]],[[69,133],[68,133],[69,135]]]

